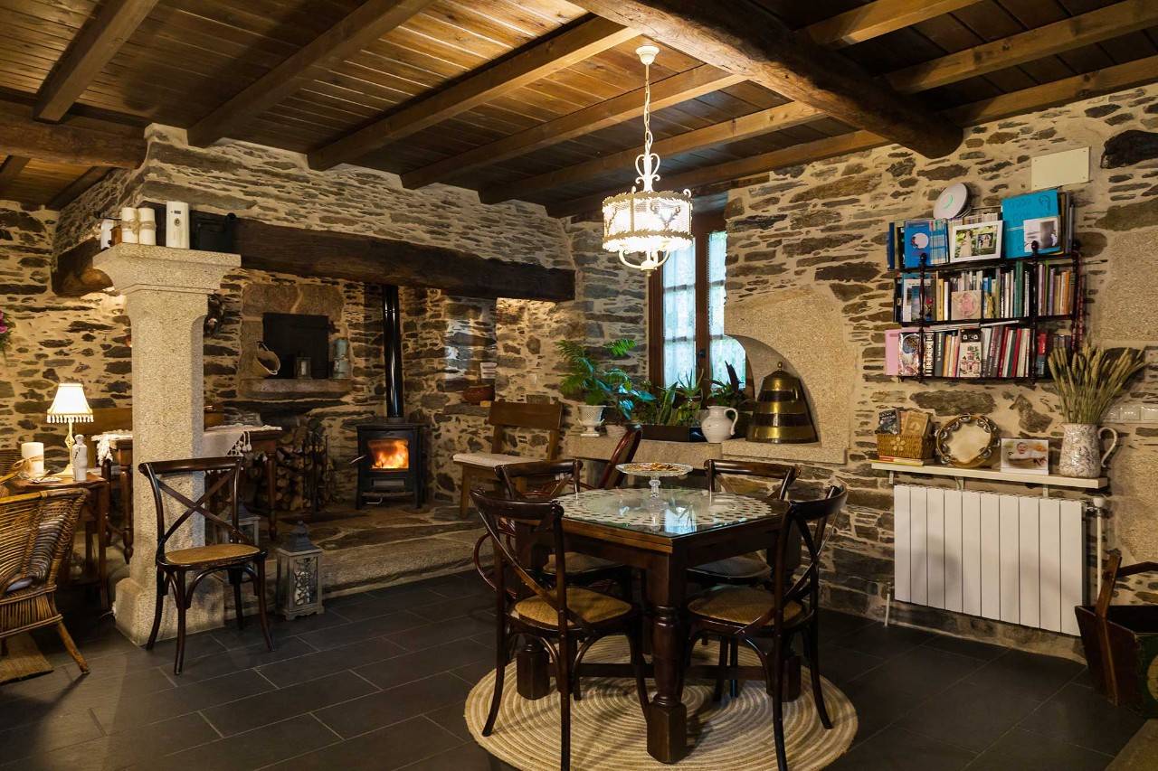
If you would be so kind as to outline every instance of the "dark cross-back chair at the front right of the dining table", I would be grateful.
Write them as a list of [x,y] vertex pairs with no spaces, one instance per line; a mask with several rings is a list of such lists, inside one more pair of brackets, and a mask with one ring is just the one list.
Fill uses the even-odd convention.
[[[804,636],[805,658],[812,673],[812,697],[820,722],[826,729],[833,727],[820,688],[820,555],[828,536],[828,520],[844,508],[846,499],[846,489],[833,486],[828,495],[820,500],[786,505],[787,511],[776,537],[770,592],[750,586],[721,585],[688,602],[689,651],[705,634],[721,640],[717,698],[724,686],[724,640],[735,645],[742,642],[760,656],[765,688],[772,696],[772,730],[779,771],[787,771],[789,768],[784,752],[784,663],[792,653],[792,638],[798,632]],[[794,542],[793,536],[804,542],[807,558],[801,565],[802,571],[798,572],[799,578],[787,586],[792,578],[787,570],[789,543]],[[757,638],[769,637],[772,639],[770,654],[756,644]]]

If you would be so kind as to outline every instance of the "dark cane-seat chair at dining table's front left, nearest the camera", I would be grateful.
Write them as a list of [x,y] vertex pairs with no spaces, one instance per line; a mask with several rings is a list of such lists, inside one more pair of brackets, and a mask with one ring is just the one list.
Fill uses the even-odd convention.
[[[510,641],[529,636],[548,647],[556,664],[555,684],[559,691],[562,713],[559,768],[571,768],[571,693],[578,682],[579,662],[596,640],[608,634],[623,634],[631,649],[639,706],[647,714],[647,689],[644,683],[644,659],[640,652],[642,615],[635,605],[617,597],[567,586],[566,552],[563,550],[563,507],[557,501],[527,501],[494,498],[475,490],[470,493],[494,544],[493,585],[496,602],[494,693],[486,715],[483,735],[494,730],[499,704],[503,700],[503,680],[510,660]],[[558,559],[555,586],[547,587],[535,580],[519,563],[515,551],[507,545],[506,530],[500,522],[525,523],[535,533],[550,535]],[[507,570],[518,577],[522,599],[513,597],[506,586]]]

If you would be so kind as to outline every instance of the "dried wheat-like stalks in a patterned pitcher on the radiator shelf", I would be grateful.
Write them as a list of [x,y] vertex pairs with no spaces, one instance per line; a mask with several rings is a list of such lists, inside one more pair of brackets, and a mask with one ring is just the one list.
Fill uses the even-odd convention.
[[[1090,479],[1100,476],[1102,465],[1117,446],[1117,432],[1099,428],[1098,421],[1130,377],[1145,366],[1145,354],[1136,348],[1104,351],[1087,343],[1072,353],[1065,348],[1050,352],[1049,372],[1065,418],[1058,473]],[[1102,432],[1113,438],[1105,453],[1099,446]]]

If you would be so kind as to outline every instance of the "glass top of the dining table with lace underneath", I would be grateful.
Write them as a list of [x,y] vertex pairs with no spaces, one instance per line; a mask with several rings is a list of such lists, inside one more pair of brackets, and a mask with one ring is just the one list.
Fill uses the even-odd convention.
[[587,490],[557,500],[569,519],[669,538],[780,513],[760,498],[687,487],[664,487],[659,498],[651,498],[646,487],[625,487]]

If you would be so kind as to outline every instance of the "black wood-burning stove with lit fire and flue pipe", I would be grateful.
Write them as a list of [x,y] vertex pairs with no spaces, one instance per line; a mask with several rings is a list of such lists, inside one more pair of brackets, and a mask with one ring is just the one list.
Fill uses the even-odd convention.
[[358,495],[367,500],[426,499],[426,448],[423,424],[403,417],[402,315],[398,287],[382,287],[382,357],[386,361],[386,420],[358,426]]

